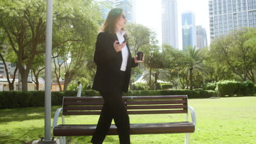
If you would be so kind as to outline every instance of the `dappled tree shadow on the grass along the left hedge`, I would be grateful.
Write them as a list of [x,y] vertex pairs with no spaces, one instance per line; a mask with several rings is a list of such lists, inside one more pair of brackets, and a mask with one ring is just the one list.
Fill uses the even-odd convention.
[[[51,108],[51,117],[54,117],[55,111],[61,106]],[[44,118],[44,107],[27,107],[21,109],[2,109],[0,110],[0,123],[21,122],[33,119]]]

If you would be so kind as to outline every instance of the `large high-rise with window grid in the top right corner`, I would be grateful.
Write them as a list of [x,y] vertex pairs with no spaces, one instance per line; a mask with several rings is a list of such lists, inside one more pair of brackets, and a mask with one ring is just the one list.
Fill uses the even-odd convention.
[[210,0],[208,4],[211,40],[242,27],[256,27],[256,0]]

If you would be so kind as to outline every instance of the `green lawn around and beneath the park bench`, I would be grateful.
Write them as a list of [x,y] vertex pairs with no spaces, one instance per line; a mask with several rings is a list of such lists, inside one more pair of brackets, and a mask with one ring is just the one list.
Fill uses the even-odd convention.
[[[197,117],[190,143],[256,142],[256,97],[190,99],[189,105],[194,107]],[[59,107],[52,107],[52,117]],[[184,118],[184,115],[130,115],[130,122],[178,122]],[[67,124],[95,124],[98,116],[67,116],[65,120]],[[39,137],[44,137],[44,107],[0,110],[1,144],[31,143]],[[90,143],[90,140],[91,136],[67,137],[69,144]],[[107,143],[119,143],[118,136],[107,136],[104,144]],[[131,143],[179,144],[184,143],[184,134],[131,135]]]

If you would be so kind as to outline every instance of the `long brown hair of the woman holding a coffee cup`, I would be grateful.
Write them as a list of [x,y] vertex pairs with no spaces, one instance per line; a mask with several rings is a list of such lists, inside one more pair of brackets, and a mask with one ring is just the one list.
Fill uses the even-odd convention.
[[[111,34],[115,34],[115,22],[123,14],[123,9],[114,8],[109,11],[106,21],[101,27],[101,31],[108,31]],[[125,31],[124,28],[121,30]]]

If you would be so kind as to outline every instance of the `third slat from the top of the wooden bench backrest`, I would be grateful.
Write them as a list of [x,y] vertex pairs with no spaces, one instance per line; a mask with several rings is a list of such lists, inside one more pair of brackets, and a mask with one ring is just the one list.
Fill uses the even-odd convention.
[[[187,105],[139,105],[139,106],[126,106],[127,110],[139,109],[184,109]],[[64,106],[63,110],[101,110],[102,106]]]

